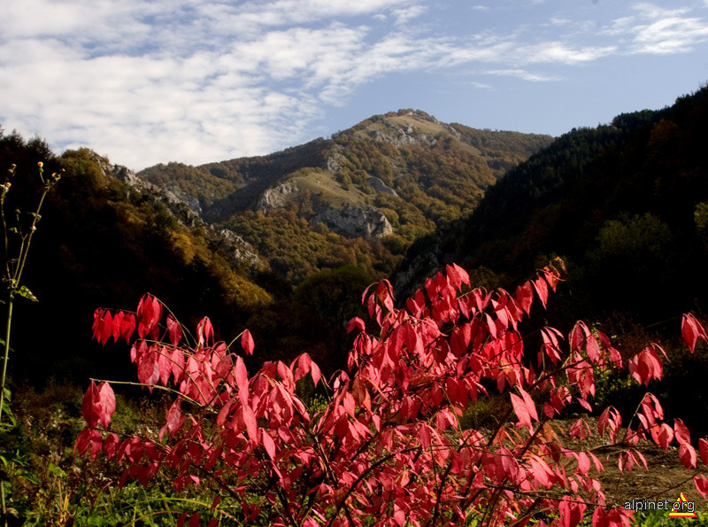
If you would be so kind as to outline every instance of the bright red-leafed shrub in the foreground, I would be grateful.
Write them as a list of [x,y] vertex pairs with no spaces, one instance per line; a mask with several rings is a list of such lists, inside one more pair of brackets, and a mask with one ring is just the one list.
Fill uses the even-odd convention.
[[[125,339],[140,383],[170,387],[173,404],[157,438],[118,438],[110,432],[115,399],[109,384],[93,381],[83,403],[87,428],[76,449],[122,463],[122,481],[142,484],[172,475],[177,489],[205,478],[219,485],[210,525],[219,511],[246,524],[289,525],[558,525],[583,518],[594,526],[628,526],[633,513],[607,508],[597,471],[603,462],[576,451],[547,422],[577,403],[591,410],[598,369],[627,362],[640,384],[662,375],[664,351],[650,344],[622,357],[603,333],[577,322],[566,338],[540,330],[540,349],[530,349],[519,324],[532,309],[545,308],[560,281],[555,262],[515,294],[471,290],[466,272],[447,267],[396,309],[387,281],[370,286],[363,301],[376,330],[359,319],[349,354],[349,373],[331,380],[332,399],[310,415],[296,395],[306,376],[324,384],[306,353],[291,364],[266,362],[249,376],[238,349],[213,342],[208,319],[196,337],[181,329],[156,298],[145,296],[137,315],[97,310],[99,342]],[[137,336],[135,336],[137,329]],[[682,335],[693,349],[708,340],[693,315]],[[253,353],[244,331],[242,352]],[[490,391],[510,399],[496,430],[463,430],[466,407]],[[647,394],[635,428],[623,428],[607,407],[590,427],[574,422],[572,438],[603,436],[621,446],[621,470],[645,464],[640,438],[662,448],[675,441],[681,461],[695,469],[708,462],[708,442],[692,446],[680,420],[664,422],[658,399]],[[198,415],[198,418],[196,417]],[[696,489],[708,480],[695,473]],[[204,516],[204,513],[203,513]],[[198,513],[181,524],[196,525]]]

